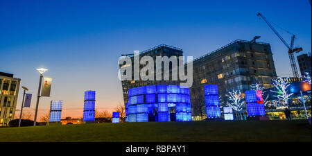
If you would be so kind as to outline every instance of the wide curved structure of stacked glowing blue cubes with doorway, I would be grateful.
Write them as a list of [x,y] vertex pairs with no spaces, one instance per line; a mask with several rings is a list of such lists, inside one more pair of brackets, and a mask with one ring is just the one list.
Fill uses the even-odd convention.
[[[176,108],[176,121],[191,121],[189,88],[149,85],[129,89],[128,96],[128,122],[169,121],[169,107]],[[149,116],[154,110],[155,119]]]

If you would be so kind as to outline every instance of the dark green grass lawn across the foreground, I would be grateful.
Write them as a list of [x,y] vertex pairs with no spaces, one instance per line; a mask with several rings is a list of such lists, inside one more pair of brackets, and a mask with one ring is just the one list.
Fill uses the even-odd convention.
[[0,128],[0,141],[309,141],[307,121],[90,123]]

